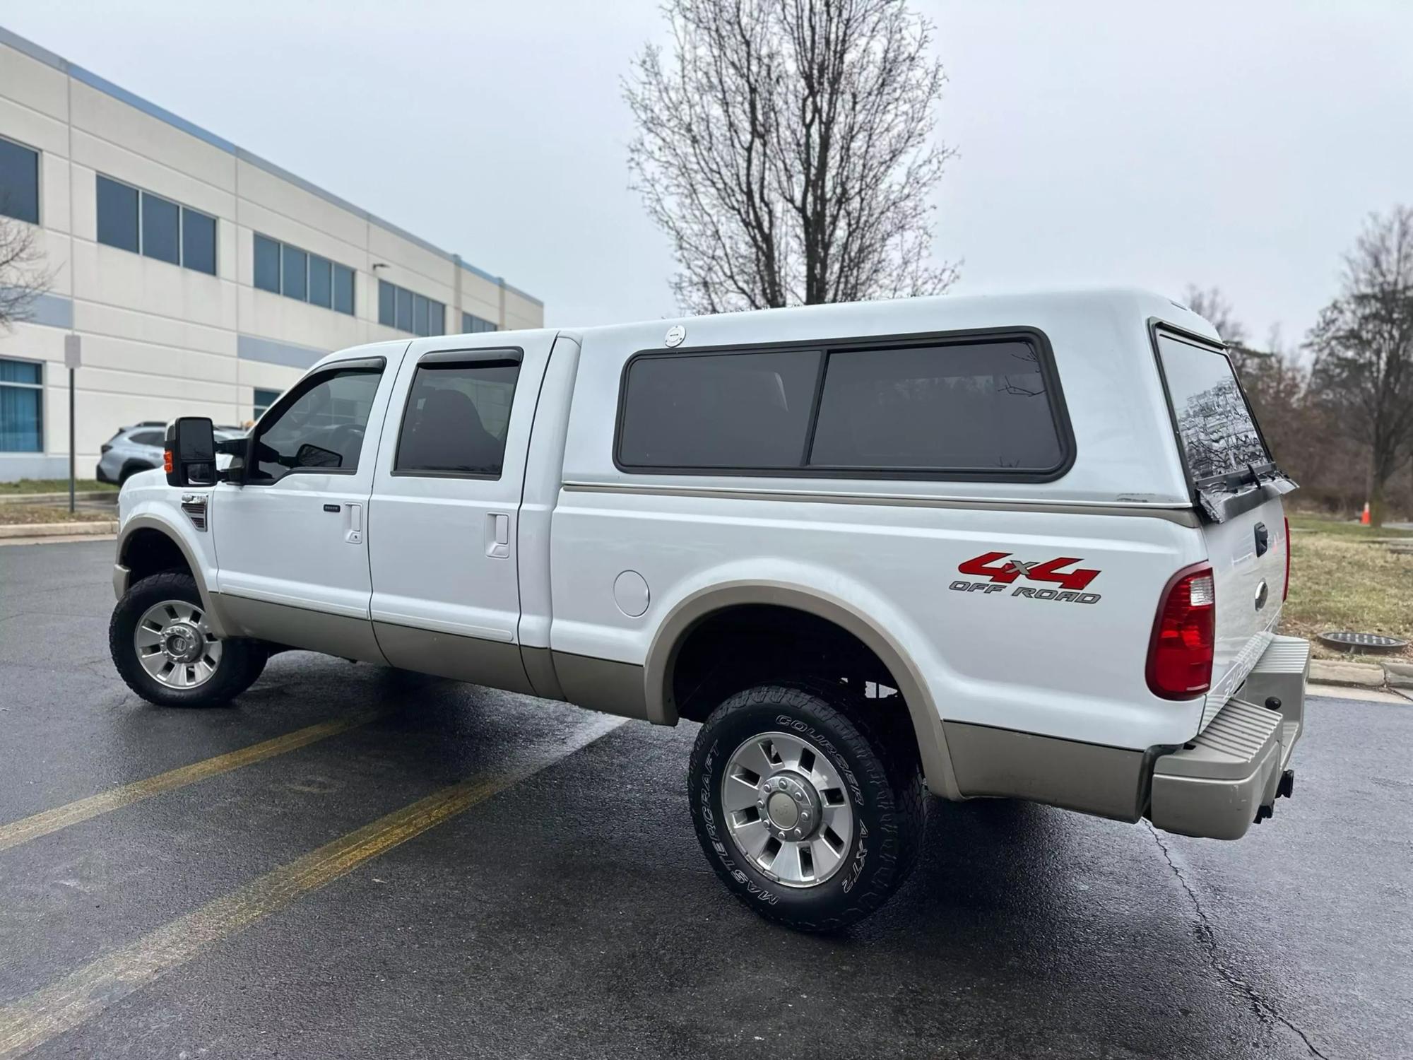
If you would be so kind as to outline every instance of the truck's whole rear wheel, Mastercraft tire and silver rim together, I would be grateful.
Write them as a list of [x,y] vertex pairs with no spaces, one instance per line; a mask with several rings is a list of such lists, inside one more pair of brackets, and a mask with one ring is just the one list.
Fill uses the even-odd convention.
[[688,773],[716,875],[769,920],[827,931],[901,885],[921,841],[917,763],[845,687],[757,685],[702,725]]

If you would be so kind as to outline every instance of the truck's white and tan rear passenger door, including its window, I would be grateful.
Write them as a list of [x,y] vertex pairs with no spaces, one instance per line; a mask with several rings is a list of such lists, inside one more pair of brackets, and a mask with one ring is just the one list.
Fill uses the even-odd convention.
[[393,666],[531,691],[517,533],[552,331],[422,339],[403,359],[369,503],[372,616]]

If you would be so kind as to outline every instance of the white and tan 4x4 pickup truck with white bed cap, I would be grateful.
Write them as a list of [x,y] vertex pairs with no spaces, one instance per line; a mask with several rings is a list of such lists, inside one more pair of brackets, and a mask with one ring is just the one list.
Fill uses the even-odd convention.
[[1293,786],[1294,485],[1167,298],[382,342],[167,464],[119,502],[138,695],[307,649],[702,722],[706,858],[796,927],[887,899],[927,791],[1235,840]]

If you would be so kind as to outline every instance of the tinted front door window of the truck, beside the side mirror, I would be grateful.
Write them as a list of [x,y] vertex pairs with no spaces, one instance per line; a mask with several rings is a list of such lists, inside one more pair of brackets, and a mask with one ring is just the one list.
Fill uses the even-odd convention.
[[301,384],[271,410],[254,438],[247,482],[276,482],[291,471],[353,473],[382,369],[343,369]]

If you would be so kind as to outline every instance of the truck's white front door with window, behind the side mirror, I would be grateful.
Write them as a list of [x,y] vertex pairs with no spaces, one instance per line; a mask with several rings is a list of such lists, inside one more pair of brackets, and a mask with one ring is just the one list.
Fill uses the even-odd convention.
[[216,585],[237,620],[256,616],[242,625],[277,622],[294,630],[283,643],[319,650],[328,616],[366,626],[367,500],[394,370],[379,356],[311,373],[256,425],[244,483],[216,486]]

